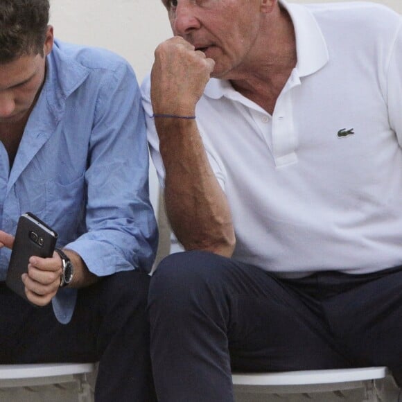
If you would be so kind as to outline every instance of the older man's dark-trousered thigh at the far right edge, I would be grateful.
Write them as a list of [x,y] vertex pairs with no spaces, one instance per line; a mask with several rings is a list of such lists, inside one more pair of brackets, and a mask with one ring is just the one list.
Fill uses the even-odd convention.
[[324,302],[333,333],[360,365],[402,374],[402,268],[347,280],[351,289]]

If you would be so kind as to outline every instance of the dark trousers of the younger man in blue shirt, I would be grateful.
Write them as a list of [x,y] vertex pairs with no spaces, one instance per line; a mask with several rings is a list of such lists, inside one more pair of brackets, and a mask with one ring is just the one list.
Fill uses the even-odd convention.
[[0,286],[0,363],[99,362],[96,402],[152,402],[150,277],[119,272],[78,291],[69,324]]

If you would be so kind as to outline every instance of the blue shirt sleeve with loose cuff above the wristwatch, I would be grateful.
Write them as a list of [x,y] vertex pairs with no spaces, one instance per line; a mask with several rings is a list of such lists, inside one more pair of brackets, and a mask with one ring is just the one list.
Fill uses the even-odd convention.
[[[96,100],[85,172],[85,229],[65,248],[77,252],[99,277],[150,271],[157,227],[148,191],[148,146],[141,95],[134,72],[121,64],[104,74]],[[69,322],[76,291],[60,290],[53,310]],[[74,303],[72,303],[74,304]]]

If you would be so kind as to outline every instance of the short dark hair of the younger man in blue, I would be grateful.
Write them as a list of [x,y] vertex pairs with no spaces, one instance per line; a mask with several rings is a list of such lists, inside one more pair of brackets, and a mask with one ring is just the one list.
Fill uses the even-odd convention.
[[0,63],[43,55],[49,0],[0,0]]

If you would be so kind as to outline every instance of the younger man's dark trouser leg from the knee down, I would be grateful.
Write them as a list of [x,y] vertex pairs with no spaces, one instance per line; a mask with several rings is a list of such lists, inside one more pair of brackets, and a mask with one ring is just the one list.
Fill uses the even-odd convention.
[[97,402],[156,401],[146,313],[150,277],[124,272],[100,283]]

